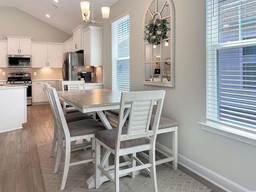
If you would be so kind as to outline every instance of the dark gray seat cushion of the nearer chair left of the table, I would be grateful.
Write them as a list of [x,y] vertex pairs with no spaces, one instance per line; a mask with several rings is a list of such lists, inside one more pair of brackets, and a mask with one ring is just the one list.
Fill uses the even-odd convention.
[[70,136],[81,136],[95,134],[96,132],[106,130],[105,126],[94,119],[86,119],[68,123]]

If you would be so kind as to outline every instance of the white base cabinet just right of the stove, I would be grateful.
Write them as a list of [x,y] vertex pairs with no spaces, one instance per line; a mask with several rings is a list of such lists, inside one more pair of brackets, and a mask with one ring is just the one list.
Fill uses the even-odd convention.
[[45,83],[49,84],[53,88],[56,88],[56,81],[32,81],[32,103],[49,101],[44,88]]

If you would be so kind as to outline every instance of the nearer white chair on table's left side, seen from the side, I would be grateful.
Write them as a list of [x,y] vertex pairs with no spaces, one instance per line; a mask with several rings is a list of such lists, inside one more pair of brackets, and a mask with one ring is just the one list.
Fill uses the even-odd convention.
[[[64,113],[60,105],[60,100],[58,99],[58,94],[56,92],[56,89],[52,88],[51,86],[47,86],[46,89],[49,94],[49,98],[50,98],[49,101],[51,102],[52,110],[54,112],[55,122],[58,127],[58,146],[57,146],[57,155],[56,155],[55,166],[54,166],[54,173],[57,173],[58,171],[61,154],[62,153],[65,154],[64,169],[63,169],[62,180],[60,184],[60,190],[64,190],[66,180],[68,177],[69,166],[88,163],[88,162],[94,162],[94,158],[93,158],[94,145],[92,144],[90,159],[70,163],[71,142],[76,140],[84,140],[84,139],[91,139],[92,142],[94,142],[94,134],[98,131],[106,130],[106,128],[102,123],[94,119],[80,120],[76,122],[70,122],[67,124]],[[65,145],[63,144],[63,141],[65,141]]]

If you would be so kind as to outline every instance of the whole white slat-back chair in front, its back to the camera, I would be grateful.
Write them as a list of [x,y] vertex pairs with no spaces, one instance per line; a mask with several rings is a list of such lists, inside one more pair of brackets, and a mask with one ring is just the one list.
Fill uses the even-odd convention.
[[[100,187],[100,175],[104,174],[115,185],[115,191],[119,192],[119,177],[131,173],[135,176],[137,170],[149,168],[152,190],[157,191],[155,145],[156,132],[160,121],[165,91],[122,92],[120,113],[116,129],[104,130],[95,134],[95,187]],[[154,101],[158,100],[156,115],[152,130],[149,130],[150,119]],[[124,106],[131,102],[128,127],[123,127]],[[100,160],[100,146],[109,150],[115,156],[114,174],[112,166],[102,167]],[[136,157],[136,153],[149,150],[149,163],[142,164]],[[125,164],[119,163],[119,157],[131,154],[131,161]],[[138,162],[138,166],[136,166]],[[130,168],[120,170],[122,165],[131,165]]]

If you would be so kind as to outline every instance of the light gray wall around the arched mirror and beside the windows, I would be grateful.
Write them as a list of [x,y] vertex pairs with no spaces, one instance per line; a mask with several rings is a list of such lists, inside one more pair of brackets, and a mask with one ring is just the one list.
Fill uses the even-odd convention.
[[[256,147],[201,129],[206,122],[206,1],[173,0],[175,88],[142,84],[142,18],[149,0],[119,0],[103,29],[104,88],[111,89],[111,25],[130,11],[130,90],[166,90],[162,116],[178,122],[178,153],[249,190],[256,190]],[[96,18],[101,20],[102,17]],[[107,78],[109,72],[109,78]],[[171,134],[158,136],[170,147]]]

